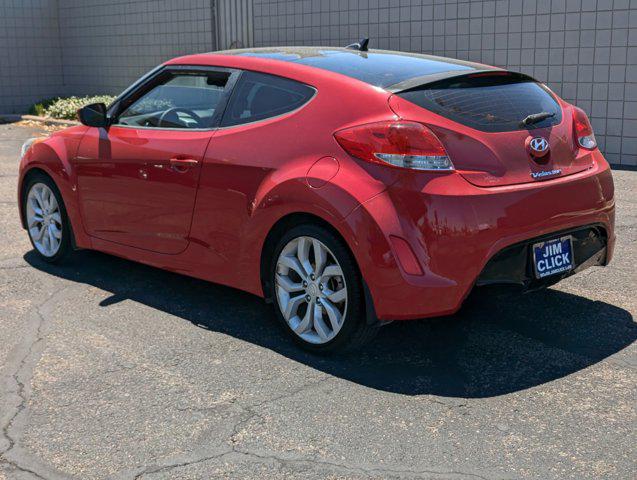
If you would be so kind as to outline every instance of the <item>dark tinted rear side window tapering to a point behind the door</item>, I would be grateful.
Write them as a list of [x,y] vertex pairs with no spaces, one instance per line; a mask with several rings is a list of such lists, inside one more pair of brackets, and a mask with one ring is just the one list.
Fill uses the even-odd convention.
[[310,100],[314,92],[313,88],[287,78],[243,72],[221,126],[240,125],[291,112]]

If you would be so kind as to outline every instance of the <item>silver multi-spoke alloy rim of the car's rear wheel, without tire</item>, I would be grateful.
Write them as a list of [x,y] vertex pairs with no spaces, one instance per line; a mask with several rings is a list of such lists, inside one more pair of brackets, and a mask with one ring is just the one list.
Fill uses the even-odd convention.
[[283,318],[303,340],[324,344],[341,330],[347,284],[334,254],[320,240],[292,239],[279,254],[276,297]]

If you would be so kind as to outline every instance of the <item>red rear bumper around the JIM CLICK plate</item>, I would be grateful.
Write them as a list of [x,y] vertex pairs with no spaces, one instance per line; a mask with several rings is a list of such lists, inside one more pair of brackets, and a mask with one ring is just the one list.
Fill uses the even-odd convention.
[[[508,247],[585,226],[595,226],[604,237],[603,258],[576,271],[591,262],[607,264],[615,244],[614,188],[608,164],[601,153],[596,156],[586,172],[507,187],[476,187],[458,174],[411,176],[359,206],[345,221],[358,232],[352,250],[377,316],[400,320],[451,314],[476,284],[526,282],[535,288],[526,271],[493,281],[490,261],[502,267],[498,255]],[[405,272],[390,236],[407,241],[422,275]],[[529,254],[526,247],[522,250]]]

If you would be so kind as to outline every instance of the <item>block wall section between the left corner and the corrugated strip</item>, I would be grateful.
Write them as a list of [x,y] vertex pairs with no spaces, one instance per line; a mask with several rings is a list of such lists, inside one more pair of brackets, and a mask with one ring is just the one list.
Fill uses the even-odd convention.
[[165,60],[214,50],[211,0],[59,0],[64,80],[117,94]]

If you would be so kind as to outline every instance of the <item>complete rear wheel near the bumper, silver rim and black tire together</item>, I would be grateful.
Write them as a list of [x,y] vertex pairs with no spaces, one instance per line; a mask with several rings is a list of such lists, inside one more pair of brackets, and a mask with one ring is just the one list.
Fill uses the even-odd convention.
[[288,230],[269,266],[276,317],[292,339],[318,353],[356,349],[370,341],[361,275],[345,243],[318,225]]

